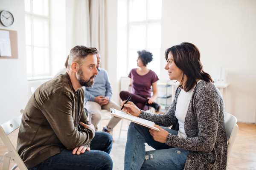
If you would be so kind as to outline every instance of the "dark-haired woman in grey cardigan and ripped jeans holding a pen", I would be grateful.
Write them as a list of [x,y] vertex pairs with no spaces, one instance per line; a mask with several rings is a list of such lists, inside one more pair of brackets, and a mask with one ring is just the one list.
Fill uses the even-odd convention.
[[[198,48],[183,42],[168,48],[165,57],[169,79],[180,85],[165,114],[147,113],[132,102],[125,104],[126,113],[150,120],[160,129],[151,130],[131,122],[125,170],[226,169],[224,102],[210,75],[203,71]],[[165,128],[170,126],[171,129]],[[146,152],[145,143],[156,150]]]

